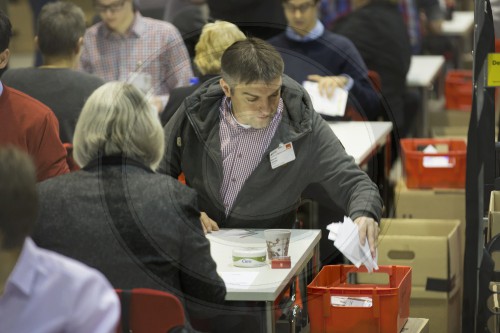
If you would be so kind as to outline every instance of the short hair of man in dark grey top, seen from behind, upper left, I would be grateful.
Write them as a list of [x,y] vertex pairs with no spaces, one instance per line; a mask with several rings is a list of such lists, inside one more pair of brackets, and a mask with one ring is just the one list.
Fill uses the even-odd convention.
[[85,34],[85,14],[71,2],[50,2],[38,16],[38,46],[43,55],[69,56]]

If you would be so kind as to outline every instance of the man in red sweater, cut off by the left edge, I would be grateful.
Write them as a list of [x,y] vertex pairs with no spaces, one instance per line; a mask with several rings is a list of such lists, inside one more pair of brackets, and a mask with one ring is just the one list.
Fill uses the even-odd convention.
[[[11,35],[10,20],[0,11],[0,71],[9,61]],[[9,144],[31,155],[38,181],[69,172],[54,113],[36,99],[0,81],[0,146]]]

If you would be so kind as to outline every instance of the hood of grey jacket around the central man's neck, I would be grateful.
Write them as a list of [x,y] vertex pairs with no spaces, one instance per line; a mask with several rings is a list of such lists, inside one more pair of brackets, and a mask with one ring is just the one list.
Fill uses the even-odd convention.
[[[184,112],[193,127],[204,140],[213,129],[214,117],[219,117],[219,106],[224,92],[219,84],[220,76],[204,82],[184,102]],[[312,114],[315,112],[305,89],[290,77],[283,75],[281,98],[285,105],[282,122],[292,130],[290,139],[295,135],[312,130]]]

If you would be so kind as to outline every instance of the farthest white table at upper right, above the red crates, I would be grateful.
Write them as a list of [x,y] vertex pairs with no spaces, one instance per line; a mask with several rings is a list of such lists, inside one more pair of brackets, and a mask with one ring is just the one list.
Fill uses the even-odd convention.
[[463,55],[472,51],[472,30],[474,11],[453,12],[449,21],[443,21],[442,36],[451,37],[454,43],[454,57],[457,68],[463,68]]

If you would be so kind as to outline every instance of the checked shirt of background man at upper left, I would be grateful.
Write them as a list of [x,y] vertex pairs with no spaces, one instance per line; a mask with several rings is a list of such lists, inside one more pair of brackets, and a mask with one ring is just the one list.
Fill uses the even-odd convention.
[[105,81],[127,81],[134,72],[150,74],[151,92],[155,95],[167,95],[175,87],[187,86],[193,77],[177,28],[139,13],[125,35],[112,32],[104,22],[87,29],[80,69]]

